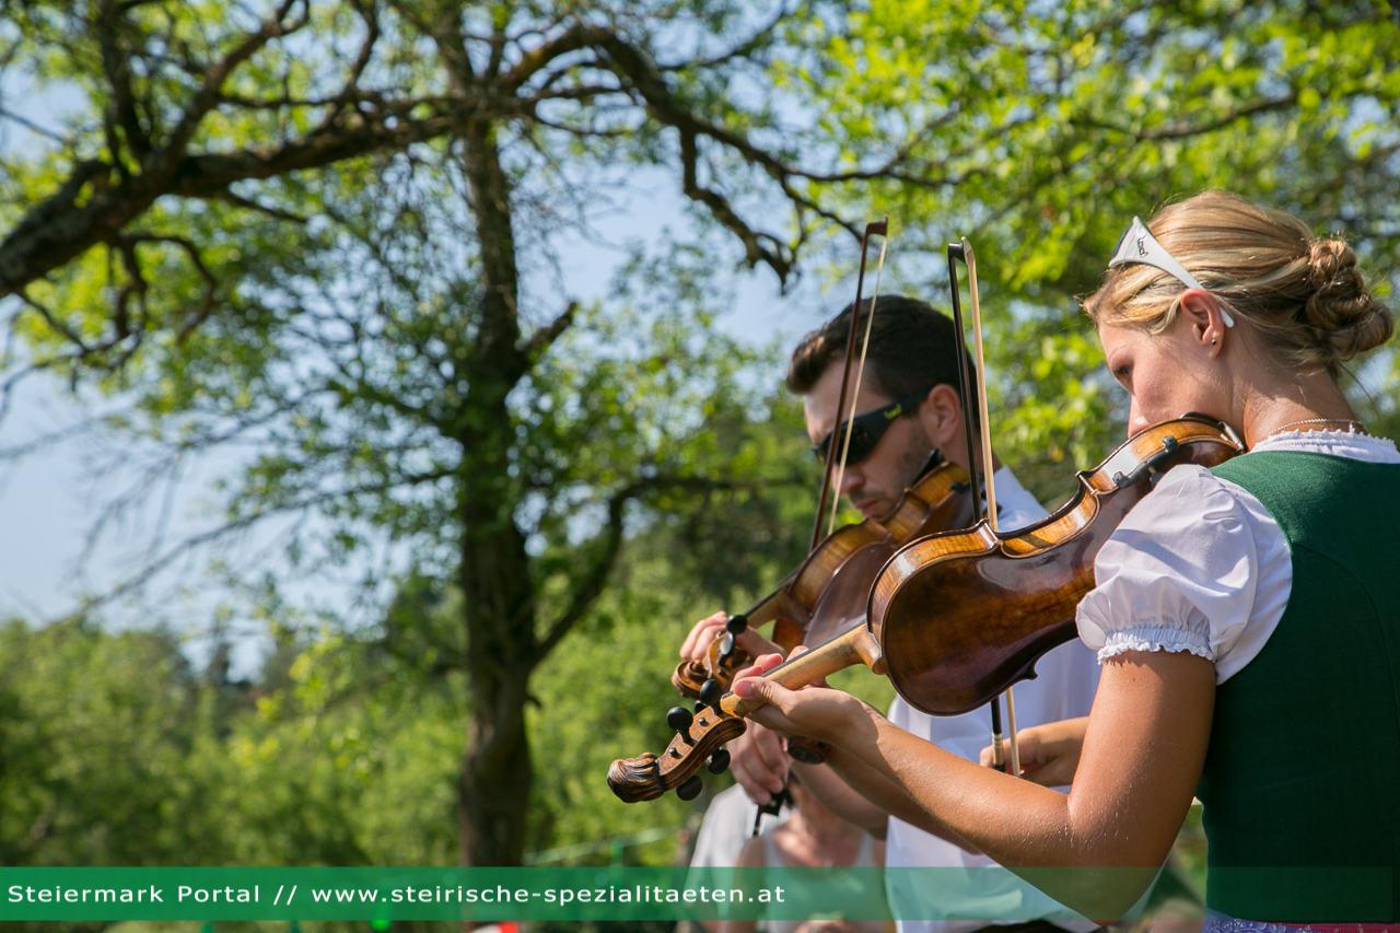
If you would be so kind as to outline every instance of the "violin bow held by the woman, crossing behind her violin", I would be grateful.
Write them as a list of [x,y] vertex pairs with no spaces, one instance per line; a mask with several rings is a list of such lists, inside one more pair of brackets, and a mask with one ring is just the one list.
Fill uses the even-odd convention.
[[[962,321],[962,301],[958,291],[958,261],[962,259],[963,265],[967,266],[967,304],[972,308],[972,333],[973,346],[977,350],[977,368],[981,371],[981,378],[977,373],[972,373],[967,368],[967,339],[963,336],[963,321]],[[977,483],[977,464],[974,451],[979,448],[973,443],[973,419],[967,416],[969,410],[976,410],[980,416],[980,424],[977,434],[980,438],[981,451],[981,474],[987,483],[987,510],[986,518],[987,524],[991,527],[993,534],[1000,532],[997,524],[997,488],[993,479],[995,472],[991,459],[991,423],[990,412],[987,408],[987,357],[983,354],[981,347],[981,303],[977,298],[977,256],[973,254],[972,244],[967,242],[967,237],[962,237],[959,242],[948,244],[948,287],[952,291],[953,301],[953,324],[958,329],[958,375],[960,378],[960,385],[958,387],[962,395],[963,406],[963,437],[967,441],[967,474],[972,478],[972,513],[976,517],[980,503],[979,503],[979,483]],[[972,408],[972,387],[977,391],[977,408]],[[1015,778],[1021,776],[1021,748],[1016,745],[1016,700],[1007,688],[1007,726],[1011,733],[1011,773]],[[993,766],[1000,770],[1005,770],[1005,759],[1001,752],[1001,698],[993,698],[991,700],[991,761]]]

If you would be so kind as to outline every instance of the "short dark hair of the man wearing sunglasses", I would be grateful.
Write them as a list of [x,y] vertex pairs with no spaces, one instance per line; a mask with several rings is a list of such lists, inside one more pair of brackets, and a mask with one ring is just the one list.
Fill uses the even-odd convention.
[[[865,332],[865,315],[871,300],[861,308],[860,332]],[[851,333],[851,310],[812,331],[792,350],[787,385],[798,395],[806,395],[832,366],[846,359],[846,342]],[[855,345],[860,359],[860,342]],[[958,378],[958,332],[953,319],[935,311],[927,303],[902,294],[882,294],[876,301],[871,345],[865,353],[865,378],[881,395],[900,399],[916,392],[927,392],[946,384],[955,389]],[[972,367],[969,356],[967,371]]]

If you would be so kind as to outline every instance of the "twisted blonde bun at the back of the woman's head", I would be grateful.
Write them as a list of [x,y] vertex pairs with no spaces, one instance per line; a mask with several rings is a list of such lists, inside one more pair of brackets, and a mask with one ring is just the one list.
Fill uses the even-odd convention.
[[1315,240],[1308,249],[1308,324],[1316,328],[1338,360],[1347,360],[1390,339],[1390,311],[1371,297],[1347,241]]

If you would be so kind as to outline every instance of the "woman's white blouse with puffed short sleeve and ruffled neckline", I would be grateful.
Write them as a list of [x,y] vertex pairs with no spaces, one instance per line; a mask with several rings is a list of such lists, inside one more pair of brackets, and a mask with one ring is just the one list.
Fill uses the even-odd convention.
[[[1354,431],[1287,431],[1253,451],[1305,451],[1400,464],[1393,441]],[[1263,650],[1288,605],[1294,567],[1278,523],[1238,483],[1177,466],[1105,542],[1079,637],[1099,663],[1124,651],[1190,651],[1224,684]]]

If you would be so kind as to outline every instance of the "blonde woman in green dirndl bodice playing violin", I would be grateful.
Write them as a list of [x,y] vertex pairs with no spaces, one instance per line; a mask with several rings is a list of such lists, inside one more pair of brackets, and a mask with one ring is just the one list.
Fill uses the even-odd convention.
[[1219,192],[1134,219],[1085,311],[1130,431],[1201,412],[1250,452],[1170,471],[1100,551],[1078,609],[1093,707],[1035,755],[1070,794],[757,679],[771,657],[735,692],[1095,919],[1131,904],[1198,794],[1208,929],[1400,929],[1400,454],[1337,382],[1390,312],[1343,240]]

